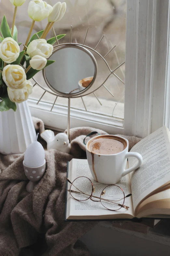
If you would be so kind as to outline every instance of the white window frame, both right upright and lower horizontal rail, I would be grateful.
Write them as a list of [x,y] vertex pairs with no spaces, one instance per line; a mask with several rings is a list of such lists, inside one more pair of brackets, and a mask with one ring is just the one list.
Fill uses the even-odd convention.
[[[170,0],[127,0],[124,122],[71,108],[70,127],[145,137],[170,125]],[[67,107],[29,99],[33,116],[47,127],[67,128]]]

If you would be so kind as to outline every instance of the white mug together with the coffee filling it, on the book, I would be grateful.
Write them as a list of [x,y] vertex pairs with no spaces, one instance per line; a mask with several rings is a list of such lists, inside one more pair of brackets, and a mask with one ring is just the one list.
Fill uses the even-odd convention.
[[[116,184],[142,164],[142,156],[128,152],[128,140],[117,135],[99,135],[86,145],[87,160],[94,180],[104,184]],[[126,169],[127,158],[138,159],[135,166]]]

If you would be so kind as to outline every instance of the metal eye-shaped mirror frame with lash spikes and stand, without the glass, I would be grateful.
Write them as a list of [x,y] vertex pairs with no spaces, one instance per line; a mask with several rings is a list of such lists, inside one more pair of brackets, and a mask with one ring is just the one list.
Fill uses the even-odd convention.
[[[65,94],[65,93],[61,93],[61,92],[59,93],[57,90],[55,90],[54,88],[52,88],[51,85],[49,86],[49,82],[48,82],[48,80],[47,80],[47,78],[46,78],[46,74],[45,74],[45,69],[43,70],[43,77],[44,77],[44,79],[45,79],[45,82],[46,82],[47,86],[48,86],[48,87],[50,88],[50,90],[52,90],[53,92],[51,92],[51,91],[47,90],[46,88],[44,88],[44,87],[43,87],[42,85],[40,85],[40,84],[38,83],[38,81],[36,81],[35,78],[33,77],[33,80],[35,81],[34,86],[37,84],[39,87],[41,87],[41,88],[44,90],[44,93],[42,94],[42,96],[41,96],[40,99],[38,100],[37,104],[41,101],[41,99],[43,98],[43,96],[45,95],[45,93],[50,93],[50,94],[52,94],[52,95],[55,95],[56,98],[55,98],[55,101],[54,101],[54,103],[53,103],[53,105],[52,105],[52,108],[51,108],[51,110],[50,110],[50,111],[52,111],[52,109],[53,109],[53,107],[54,107],[54,105],[55,105],[55,103],[56,103],[58,97],[65,97],[65,98],[68,98],[68,124],[67,124],[67,135],[68,135],[68,139],[69,139],[69,137],[70,137],[70,99],[71,99],[71,98],[78,98],[78,97],[81,97],[81,100],[82,100],[82,102],[83,102],[84,108],[85,108],[85,110],[87,111],[87,108],[86,108],[86,105],[85,105],[85,103],[84,103],[83,97],[84,97],[84,96],[87,96],[87,95],[89,95],[89,94],[93,94],[93,95],[96,97],[96,99],[98,100],[98,102],[100,103],[100,105],[102,106],[102,103],[101,103],[100,100],[98,99],[98,97],[97,97],[97,95],[95,94],[95,92],[96,92],[99,88],[101,88],[101,87],[103,86],[103,87],[114,97],[114,95],[109,91],[109,89],[108,89],[104,84],[105,84],[105,82],[107,81],[107,79],[110,77],[110,75],[114,75],[117,79],[120,80],[120,82],[122,82],[122,83],[124,84],[124,82],[121,80],[121,78],[118,77],[114,72],[115,72],[118,68],[120,68],[120,67],[125,63],[125,61],[123,61],[123,62],[122,62],[119,66],[117,66],[114,70],[111,70],[110,67],[109,67],[109,65],[108,65],[108,63],[107,63],[107,61],[105,60],[105,58],[106,58],[106,56],[116,47],[116,45],[113,46],[113,47],[106,53],[106,55],[105,55],[104,57],[103,57],[99,52],[97,52],[96,49],[97,49],[97,47],[99,46],[99,44],[101,43],[101,41],[102,41],[102,39],[104,38],[105,35],[102,36],[102,38],[99,40],[99,42],[97,43],[97,45],[96,45],[96,47],[95,47],[94,49],[91,48],[91,47],[89,47],[89,46],[87,46],[87,45],[85,45],[86,37],[87,37],[87,33],[88,33],[88,30],[89,30],[89,27],[87,28],[86,35],[85,35],[84,43],[83,43],[83,44],[80,44],[80,43],[72,43],[72,26],[71,26],[71,30],[70,30],[70,43],[62,43],[62,44],[59,44],[59,42],[58,42],[58,40],[57,40],[56,33],[55,33],[55,31],[54,31],[54,28],[52,28],[52,30],[53,30],[53,33],[54,33],[54,36],[55,36],[56,42],[57,42],[57,45],[54,46],[53,53],[55,53],[55,52],[56,52],[57,50],[59,50],[60,48],[66,48],[66,47],[75,47],[75,48],[78,48],[78,49],[83,50],[83,51],[86,52],[87,54],[89,54],[89,53],[90,53],[89,50],[91,50],[91,51],[93,51],[94,53],[96,53],[96,54],[106,63],[106,66],[107,66],[107,68],[108,68],[108,70],[109,70],[109,72],[110,72],[109,75],[106,77],[105,81],[104,81],[101,85],[99,85],[99,86],[97,87],[97,89],[95,89],[95,90],[91,91],[90,93],[88,93],[88,90],[92,87],[92,85],[94,84],[94,81],[95,81],[95,79],[96,79],[96,77],[97,77],[97,69],[98,69],[98,68],[97,68],[97,62],[96,62],[94,56],[90,53],[90,54],[91,54],[91,59],[93,60],[93,64],[94,64],[94,67],[95,67],[94,77],[93,77],[93,80],[92,80],[91,84],[90,84],[85,90],[82,90],[82,91],[80,91],[79,93],[73,93],[73,94]],[[89,55],[90,55],[90,54],[89,54]],[[87,93],[86,93],[86,92],[87,92]]]

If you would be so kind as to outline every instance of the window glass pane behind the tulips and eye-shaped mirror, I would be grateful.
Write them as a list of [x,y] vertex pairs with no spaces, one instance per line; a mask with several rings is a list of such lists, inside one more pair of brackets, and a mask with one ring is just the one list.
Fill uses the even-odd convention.
[[[47,0],[48,4],[54,5],[56,0]],[[96,47],[97,43],[105,34],[101,43],[97,47],[97,51],[105,56],[106,53],[116,44],[117,46],[107,55],[106,61],[113,70],[120,63],[125,60],[125,30],[126,30],[126,0],[65,0],[67,10],[64,18],[54,24],[56,34],[66,34],[66,36],[59,41],[59,43],[69,43],[70,40],[70,26],[73,26],[72,42],[83,43],[87,27],[89,31],[86,38],[86,45]],[[17,11],[16,26],[18,28],[18,42],[25,43],[32,20],[27,13],[29,1],[26,1]],[[7,17],[9,25],[12,25],[12,17],[14,7],[7,0],[1,0],[0,3],[0,17],[3,15]],[[42,22],[35,22],[34,33],[45,28],[47,19]],[[53,37],[52,30],[48,38]],[[23,46],[21,45],[21,48]],[[97,85],[101,85],[109,72],[106,64],[97,55],[94,54],[98,63],[98,78]],[[125,65],[123,64],[115,71],[115,74],[124,82],[125,79]],[[37,81],[45,85],[45,81],[41,72],[36,75]],[[114,94],[114,98],[104,88],[101,87],[96,91],[102,106],[93,94],[85,96],[84,102],[88,111],[104,114],[108,116],[124,117],[124,84],[111,75],[106,81],[105,86]],[[39,86],[35,86],[31,98],[39,99],[44,93],[44,90]],[[55,96],[46,93],[42,101],[53,103]],[[67,106],[67,99],[58,97],[56,104]],[[84,106],[81,98],[71,99],[71,107],[78,108],[84,111]],[[50,109],[49,109],[50,110]]]

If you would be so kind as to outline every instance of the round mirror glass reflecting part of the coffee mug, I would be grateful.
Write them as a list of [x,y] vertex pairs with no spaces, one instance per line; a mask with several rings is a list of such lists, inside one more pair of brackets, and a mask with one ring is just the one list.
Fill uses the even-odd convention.
[[49,60],[53,65],[46,67],[47,80],[53,89],[66,94],[79,93],[86,89],[95,75],[91,57],[78,48],[62,48],[54,52]]

